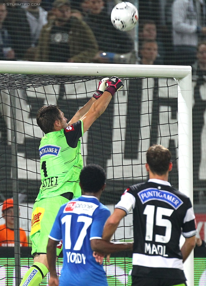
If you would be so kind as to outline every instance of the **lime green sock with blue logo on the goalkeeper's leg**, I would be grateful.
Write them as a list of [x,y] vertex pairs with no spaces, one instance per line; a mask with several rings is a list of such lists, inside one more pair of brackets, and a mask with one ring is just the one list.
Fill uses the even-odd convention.
[[43,263],[35,262],[24,275],[19,286],[38,286],[48,272],[49,270]]

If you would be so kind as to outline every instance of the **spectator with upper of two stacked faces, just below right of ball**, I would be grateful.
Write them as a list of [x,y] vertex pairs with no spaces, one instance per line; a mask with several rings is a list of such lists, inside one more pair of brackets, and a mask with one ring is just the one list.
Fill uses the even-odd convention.
[[165,57],[165,48],[162,42],[157,40],[157,27],[155,21],[145,20],[140,24],[139,29],[139,40],[140,44],[144,41],[156,41],[158,45],[158,55],[157,57],[163,61]]

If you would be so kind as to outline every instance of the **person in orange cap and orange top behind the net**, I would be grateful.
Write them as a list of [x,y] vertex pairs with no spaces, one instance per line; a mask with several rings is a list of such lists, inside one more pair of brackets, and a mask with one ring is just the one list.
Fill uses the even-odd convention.
[[[2,206],[5,224],[0,225],[0,246],[14,246],[13,199],[7,199]],[[20,228],[20,246],[28,246],[26,232]]]

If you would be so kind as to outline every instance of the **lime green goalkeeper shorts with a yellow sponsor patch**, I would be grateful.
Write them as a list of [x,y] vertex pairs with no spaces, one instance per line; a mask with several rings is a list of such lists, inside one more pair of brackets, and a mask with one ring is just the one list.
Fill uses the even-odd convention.
[[[49,234],[60,206],[69,202],[68,199],[57,196],[52,198],[43,198],[34,203],[32,210],[32,228],[30,239],[32,241],[32,255],[45,254],[49,240]],[[57,245],[57,256],[62,251],[62,243]]]

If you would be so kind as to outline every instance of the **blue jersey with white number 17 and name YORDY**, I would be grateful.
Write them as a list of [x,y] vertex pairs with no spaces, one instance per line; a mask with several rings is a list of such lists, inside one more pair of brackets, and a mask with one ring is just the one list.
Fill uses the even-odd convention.
[[103,266],[92,256],[90,240],[101,239],[110,211],[96,197],[81,196],[60,207],[49,238],[63,241],[59,286],[107,286]]

